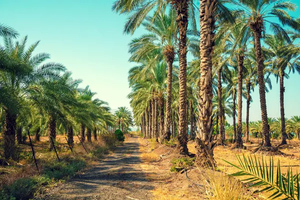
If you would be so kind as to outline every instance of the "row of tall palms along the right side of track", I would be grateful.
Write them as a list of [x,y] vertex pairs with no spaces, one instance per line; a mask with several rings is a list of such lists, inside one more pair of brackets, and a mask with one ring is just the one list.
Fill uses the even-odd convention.
[[[199,6],[196,4],[195,0],[113,3],[112,10],[128,15],[124,33],[133,34],[140,25],[145,29],[129,43],[129,61],[137,63],[128,77],[135,123],[146,137],[156,140],[158,136],[168,140],[176,133],[180,152],[189,154],[189,118],[197,161],[213,166],[215,133],[220,133],[220,142],[225,138],[225,112],[233,118],[235,147],[244,148],[242,97],[247,101],[247,138],[251,89],[258,85],[263,146],[271,149],[265,100],[266,85],[271,86],[269,76],[280,79],[284,119],[283,79],[289,72],[300,71],[296,43],[300,19],[288,14],[295,4],[285,0],[199,0]],[[234,8],[228,8],[230,4]],[[193,57],[190,62],[188,51]],[[284,120],[281,135],[286,143]]]

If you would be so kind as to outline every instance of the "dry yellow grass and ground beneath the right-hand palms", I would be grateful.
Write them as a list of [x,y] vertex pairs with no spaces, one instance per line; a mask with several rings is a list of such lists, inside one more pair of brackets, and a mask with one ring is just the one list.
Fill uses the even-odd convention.
[[[225,146],[217,146],[214,149],[214,158],[217,164],[218,171],[210,170],[203,167],[194,167],[184,171],[171,172],[171,162],[173,158],[180,158],[178,149],[167,146],[165,144],[155,144],[153,149],[150,139],[139,139],[141,158],[146,162],[141,164],[143,171],[148,172],[147,178],[159,184],[153,189],[154,199],[266,199],[271,193],[254,192],[257,188],[248,188],[235,177],[227,176],[230,173],[236,172],[237,169],[232,167],[224,160],[238,165],[235,154],[250,155],[251,151],[257,147],[257,139],[252,139],[253,143],[246,143],[247,150],[230,149],[231,144]],[[272,141],[277,145],[277,141]],[[300,150],[298,146],[299,140],[290,140],[288,145],[279,147],[279,150],[284,154],[273,155],[273,159],[280,160],[282,172],[286,172],[286,167],[291,165],[293,171],[300,171]],[[188,149],[195,153],[195,143],[188,142]],[[261,157],[261,153],[256,153]],[[151,159],[153,158],[153,159]],[[154,158],[158,158],[154,159]],[[224,160],[223,160],[224,159]],[[154,174],[154,175],[153,175]],[[187,178],[186,177],[189,178]]]

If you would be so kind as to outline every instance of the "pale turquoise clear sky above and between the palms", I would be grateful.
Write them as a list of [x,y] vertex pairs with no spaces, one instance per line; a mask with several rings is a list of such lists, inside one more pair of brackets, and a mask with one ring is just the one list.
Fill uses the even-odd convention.
[[[64,64],[73,78],[83,80],[96,97],[112,110],[129,105],[127,75],[134,63],[128,62],[127,44],[140,35],[122,33],[126,16],[111,11],[114,0],[0,0],[0,23],[15,28],[19,38],[28,35],[28,44],[41,40],[35,53],[48,52],[49,61]],[[292,0],[300,6],[300,0]],[[299,8],[292,14],[298,16]],[[0,41],[1,43],[2,41]],[[190,56],[189,56],[190,57]],[[188,60],[189,61],[189,60]],[[271,77],[272,89],[266,93],[269,117],[280,116],[279,84]],[[284,80],[285,116],[300,115],[300,75]],[[258,86],[252,93],[249,120],[260,120]],[[242,105],[245,120],[245,99]],[[232,123],[231,118],[227,118]]]

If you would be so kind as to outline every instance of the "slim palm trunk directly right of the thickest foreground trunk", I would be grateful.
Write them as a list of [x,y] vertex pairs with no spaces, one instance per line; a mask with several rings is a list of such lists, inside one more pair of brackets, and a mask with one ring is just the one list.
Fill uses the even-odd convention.
[[223,105],[222,105],[222,81],[221,81],[221,72],[222,67],[220,67],[217,71],[217,103],[218,103],[218,126],[219,126],[219,141],[218,143],[223,144],[225,140],[225,126],[223,121]]

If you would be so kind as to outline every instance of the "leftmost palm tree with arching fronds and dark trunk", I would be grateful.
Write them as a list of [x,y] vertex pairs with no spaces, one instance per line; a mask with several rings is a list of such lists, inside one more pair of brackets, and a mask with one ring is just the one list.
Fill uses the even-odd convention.
[[[1,73],[0,87],[3,91],[9,91],[11,99],[17,103],[11,106],[11,100],[4,102],[2,106],[5,110],[4,135],[7,135],[8,146],[14,145],[14,135],[16,129],[17,114],[24,104],[24,97],[28,94],[31,83],[37,82],[40,78],[58,78],[59,73],[65,71],[65,67],[56,62],[43,63],[50,57],[48,53],[38,53],[32,56],[32,52],[37,47],[39,41],[31,44],[26,49],[27,36],[21,41],[13,42],[11,37],[4,37],[4,55],[8,60],[4,60],[3,66],[7,70]],[[13,67],[13,68],[10,68]],[[10,68],[10,69],[9,69]],[[11,156],[7,154],[6,157]]]

